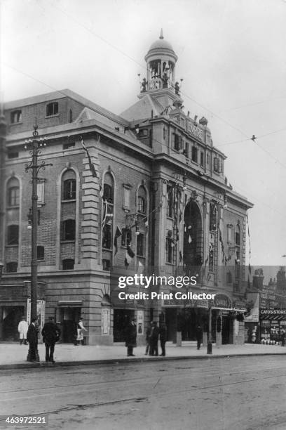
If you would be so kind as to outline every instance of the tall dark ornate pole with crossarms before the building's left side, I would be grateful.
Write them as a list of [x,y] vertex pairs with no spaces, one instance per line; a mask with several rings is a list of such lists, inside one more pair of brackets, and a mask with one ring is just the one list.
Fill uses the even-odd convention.
[[42,146],[46,146],[46,139],[39,138],[39,133],[37,131],[37,124],[34,125],[33,131],[33,139],[29,139],[29,141],[25,141],[25,149],[30,147],[30,155],[32,155],[32,160],[29,164],[25,166],[25,171],[32,170],[32,214],[30,218],[29,226],[32,230],[32,256],[31,256],[31,320],[37,316],[36,311],[36,300],[37,300],[37,256],[36,256],[36,247],[37,247],[37,227],[38,227],[38,209],[37,209],[37,183],[39,181],[38,173],[40,169],[45,169],[46,166],[52,166],[53,164],[46,164],[46,162],[42,161],[38,164],[38,156],[41,154],[41,150],[39,149]]

